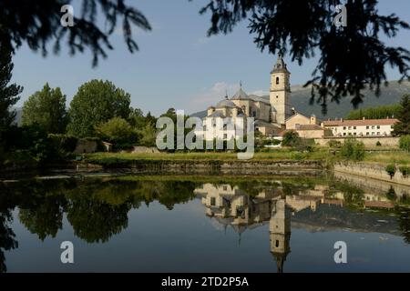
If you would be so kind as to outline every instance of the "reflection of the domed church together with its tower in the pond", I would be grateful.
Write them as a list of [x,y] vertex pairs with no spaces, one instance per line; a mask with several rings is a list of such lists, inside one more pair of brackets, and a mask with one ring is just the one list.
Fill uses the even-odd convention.
[[[204,184],[194,193],[206,206],[206,215],[214,217],[221,225],[231,226],[241,237],[248,228],[269,222],[271,253],[278,272],[291,252],[291,216],[309,208],[315,210],[323,202],[326,186],[314,186],[295,195],[284,196],[281,183],[264,186],[252,196],[238,186]],[[241,238],[240,238],[241,239]]]

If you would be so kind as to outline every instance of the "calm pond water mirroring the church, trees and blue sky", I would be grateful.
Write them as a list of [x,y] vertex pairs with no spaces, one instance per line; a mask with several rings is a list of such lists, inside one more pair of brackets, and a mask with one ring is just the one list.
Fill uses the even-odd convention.
[[0,182],[0,270],[410,272],[409,206],[410,188],[354,176]]

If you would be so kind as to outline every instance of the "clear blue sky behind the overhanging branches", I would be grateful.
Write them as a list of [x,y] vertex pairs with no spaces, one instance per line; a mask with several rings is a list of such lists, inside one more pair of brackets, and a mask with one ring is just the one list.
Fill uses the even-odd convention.
[[[200,7],[208,0],[128,0],[149,19],[151,32],[134,27],[139,52],[130,54],[118,30],[111,36],[114,50],[101,59],[96,68],[87,52],[70,56],[64,47],[59,55],[43,57],[22,46],[14,56],[13,82],[25,90],[17,106],[48,82],[59,86],[67,95],[67,105],[77,88],[92,79],[110,80],[131,95],[131,105],[144,113],[164,113],[169,107],[187,114],[205,110],[220,101],[225,92],[233,95],[242,82],[248,94],[269,91],[270,72],[277,56],[261,50],[253,43],[247,21],[236,26],[229,35],[207,37],[210,15],[199,15]],[[79,2],[74,3],[76,14]],[[395,13],[410,23],[409,0],[380,0],[379,11]],[[387,45],[401,45],[410,49],[410,31],[402,31]],[[63,46],[63,44],[62,44]],[[292,85],[302,85],[313,72],[317,58],[305,60],[302,66],[284,57],[291,71]],[[387,69],[388,78],[399,78],[396,71]]]

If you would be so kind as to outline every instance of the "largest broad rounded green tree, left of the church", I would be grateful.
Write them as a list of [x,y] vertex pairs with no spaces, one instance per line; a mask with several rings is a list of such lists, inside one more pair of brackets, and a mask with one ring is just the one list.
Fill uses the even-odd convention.
[[81,85],[70,104],[67,132],[77,137],[92,136],[97,125],[113,117],[128,118],[130,98],[109,81],[92,80]]

